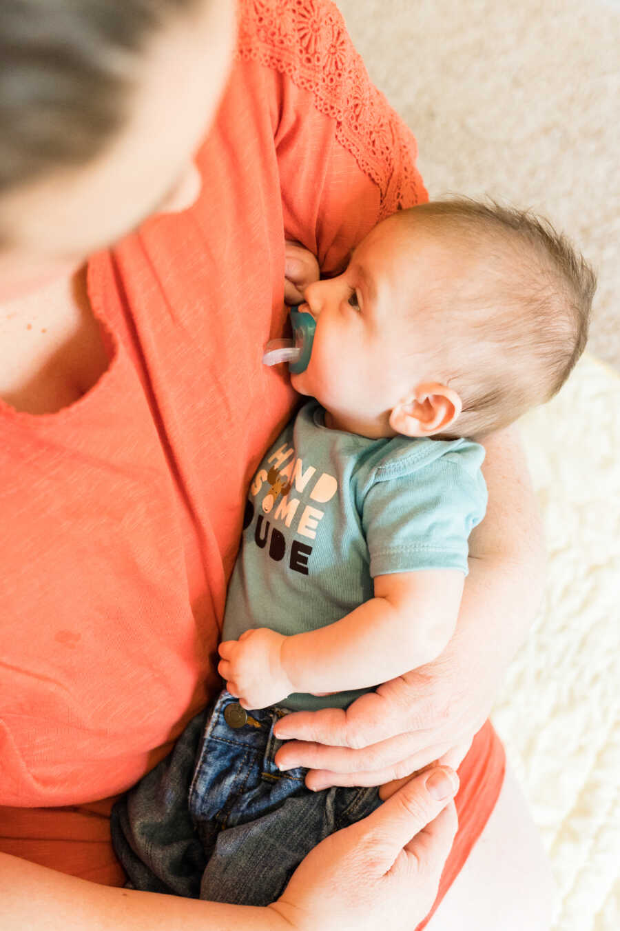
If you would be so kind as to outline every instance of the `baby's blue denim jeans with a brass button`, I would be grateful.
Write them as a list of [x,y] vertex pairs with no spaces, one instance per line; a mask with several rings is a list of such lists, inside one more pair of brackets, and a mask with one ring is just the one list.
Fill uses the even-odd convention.
[[312,792],[307,769],[281,773],[273,725],[288,710],[248,711],[233,728],[224,711],[235,703],[222,692],[114,805],[112,842],[128,886],[268,905],[312,847],[381,803],[376,788]]

